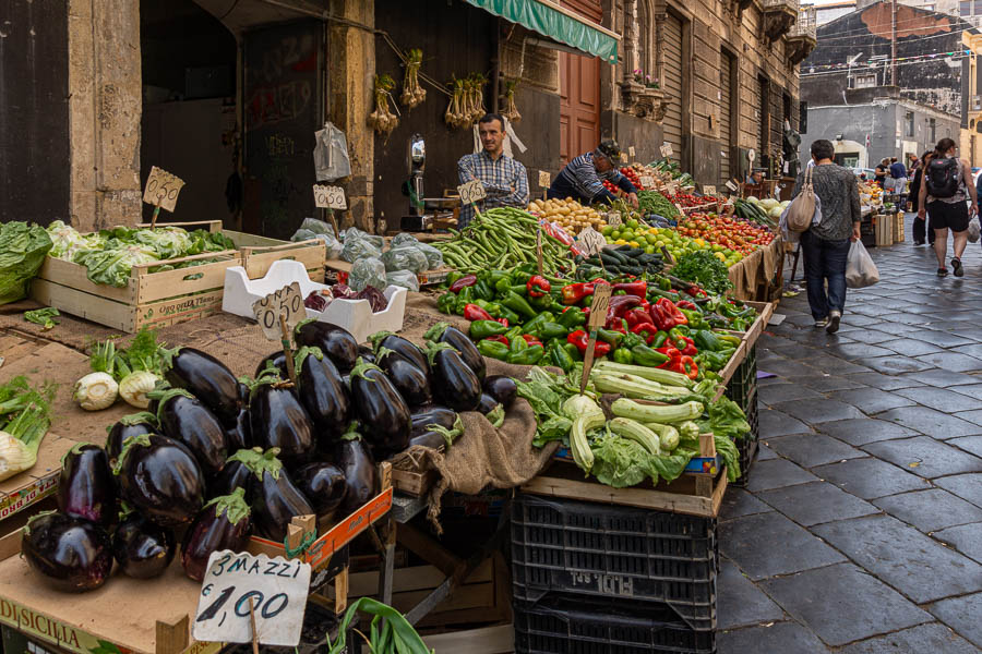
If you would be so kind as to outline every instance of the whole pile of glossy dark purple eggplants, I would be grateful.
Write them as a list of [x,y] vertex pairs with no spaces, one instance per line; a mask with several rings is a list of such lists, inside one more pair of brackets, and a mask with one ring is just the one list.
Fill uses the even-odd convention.
[[391,332],[359,347],[345,329],[295,329],[297,385],[284,353],[254,380],[181,348],[146,412],[112,425],[104,447],[80,444],[63,461],[58,510],[34,517],[22,553],[65,592],[103,585],[113,568],[148,579],[177,554],[200,581],[219,549],[251,535],[286,537],[295,516],[344,519],[376,493],[375,462],[412,445],[450,446],[458,411],[503,421],[506,377],[484,378],[470,339],[448,327],[426,350]]

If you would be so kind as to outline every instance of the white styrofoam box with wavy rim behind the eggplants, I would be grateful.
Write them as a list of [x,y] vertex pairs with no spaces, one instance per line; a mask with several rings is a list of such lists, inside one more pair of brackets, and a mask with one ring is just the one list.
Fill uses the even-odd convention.
[[[246,318],[255,318],[253,304],[295,281],[300,283],[300,293],[304,298],[314,291],[330,288],[311,281],[300,262],[286,259],[273,262],[270,271],[262,279],[249,279],[246,276],[246,268],[232,266],[225,272],[221,311]],[[360,343],[376,331],[398,331],[403,328],[408,293],[409,290],[402,287],[386,288],[383,294],[388,300],[388,306],[379,313],[372,313],[368,300],[332,300],[324,311],[308,308],[307,317],[344,327]]]

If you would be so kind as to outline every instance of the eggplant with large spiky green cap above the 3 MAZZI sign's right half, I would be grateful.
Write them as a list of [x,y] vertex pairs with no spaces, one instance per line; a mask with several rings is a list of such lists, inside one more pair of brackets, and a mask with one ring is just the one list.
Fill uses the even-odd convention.
[[271,448],[256,461],[249,462],[249,495],[252,496],[252,525],[255,534],[283,543],[287,526],[295,516],[313,516],[310,500],[294,485],[283,462]]

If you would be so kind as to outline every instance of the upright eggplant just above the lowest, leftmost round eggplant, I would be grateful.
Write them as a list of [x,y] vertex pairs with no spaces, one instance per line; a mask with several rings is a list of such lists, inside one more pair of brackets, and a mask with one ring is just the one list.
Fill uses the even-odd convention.
[[108,526],[116,522],[116,480],[106,450],[79,443],[61,458],[58,477],[58,510]]

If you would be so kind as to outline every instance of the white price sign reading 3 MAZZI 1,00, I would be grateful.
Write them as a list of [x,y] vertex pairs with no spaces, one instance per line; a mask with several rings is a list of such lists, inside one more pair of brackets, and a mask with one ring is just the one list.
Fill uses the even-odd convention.
[[309,589],[310,564],[301,559],[213,552],[191,635],[225,643],[248,643],[255,635],[265,645],[295,647]]

